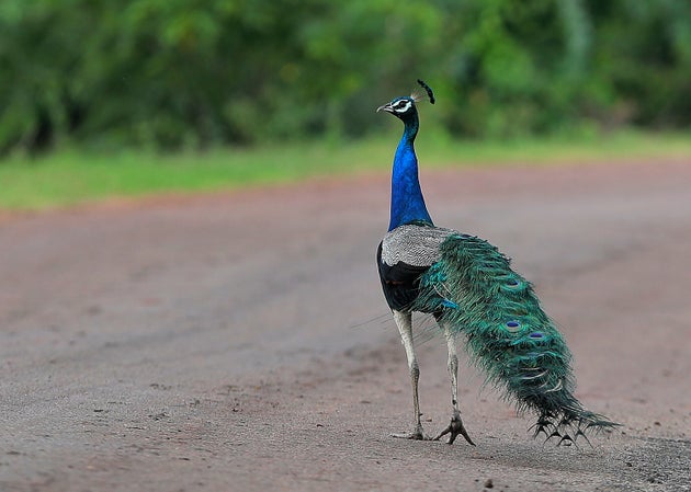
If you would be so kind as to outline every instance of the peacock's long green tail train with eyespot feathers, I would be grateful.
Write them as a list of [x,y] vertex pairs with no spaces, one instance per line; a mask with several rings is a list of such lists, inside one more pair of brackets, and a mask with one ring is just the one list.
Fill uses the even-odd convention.
[[502,389],[519,411],[537,413],[535,436],[573,442],[589,430],[616,425],[576,399],[564,337],[531,284],[511,270],[497,248],[453,234],[440,252],[420,279],[415,310],[441,312],[440,321],[466,335],[468,352],[487,382]]

